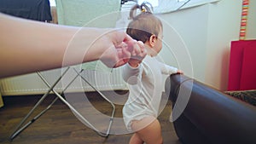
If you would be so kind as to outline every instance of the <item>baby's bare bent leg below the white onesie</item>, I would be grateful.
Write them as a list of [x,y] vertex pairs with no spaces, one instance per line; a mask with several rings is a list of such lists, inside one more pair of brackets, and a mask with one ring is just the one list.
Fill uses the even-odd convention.
[[[151,122],[151,123],[150,123]],[[145,126],[145,124],[148,124]],[[143,129],[140,129],[142,128]],[[133,121],[131,125],[136,135],[147,144],[162,144],[163,138],[161,135],[161,128],[158,119],[156,118],[143,118],[139,121]]]

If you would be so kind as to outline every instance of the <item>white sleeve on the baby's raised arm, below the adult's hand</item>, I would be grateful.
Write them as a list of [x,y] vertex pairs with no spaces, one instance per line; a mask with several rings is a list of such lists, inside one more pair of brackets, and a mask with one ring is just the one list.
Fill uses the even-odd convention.
[[127,63],[123,67],[122,77],[128,84],[137,84],[142,79],[142,65],[131,67]]

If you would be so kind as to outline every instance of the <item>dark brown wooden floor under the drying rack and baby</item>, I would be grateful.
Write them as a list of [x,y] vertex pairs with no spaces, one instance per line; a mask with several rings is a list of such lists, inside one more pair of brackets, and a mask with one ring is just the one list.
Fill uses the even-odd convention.
[[[127,93],[121,91],[119,93]],[[71,94],[76,96],[78,94]],[[107,92],[108,95],[108,92]],[[103,101],[95,92],[86,93],[93,106],[102,113],[111,112],[110,105]],[[73,115],[73,112],[60,100],[50,107],[49,111],[38,118],[13,141],[9,141],[9,135],[13,132],[20,120],[26,116],[41,95],[27,96],[6,96],[3,97],[5,106],[0,108],[0,143],[12,144],[126,144],[129,142],[131,134],[109,135],[108,138],[98,135],[79,121]],[[166,99],[166,95],[163,95]],[[36,109],[40,112],[49,105],[49,102],[55,98],[55,95],[49,95],[45,101]],[[163,104],[163,111],[159,120],[162,127],[162,135],[165,144],[181,144],[173,129],[172,123],[169,122],[171,113],[171,101],[167,105]],[[35,113],[36,113],[35,112]],[[121,118],[122,105],[116,105],[115,118]],[[33,114],[32,116],[34,116]],[[31,119],[31,118],[30,118]]]

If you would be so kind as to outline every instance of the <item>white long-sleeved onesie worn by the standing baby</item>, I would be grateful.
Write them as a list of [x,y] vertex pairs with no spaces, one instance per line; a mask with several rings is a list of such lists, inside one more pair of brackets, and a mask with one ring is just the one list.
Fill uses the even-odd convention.
[[126,64],[123,78],[129,86],[129,97],[123,108],[123,117],[127,130],[131,130],[132,120],[141,120],[147,116],[158,117],[163,74],[176,73],[177,68],[168,66],[155,57],[146,56],[136,68]]

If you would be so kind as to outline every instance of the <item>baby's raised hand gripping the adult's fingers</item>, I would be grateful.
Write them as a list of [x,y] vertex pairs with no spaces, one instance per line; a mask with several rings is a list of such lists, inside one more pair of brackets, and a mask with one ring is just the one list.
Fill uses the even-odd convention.
[[145,49],[144,43],[138,41],[134,45],[134,49],[131,52],[131,58],[128,61],[129,65],[132,67],[137,67],[142,62],[142,60],[147,55],[147,50]]

